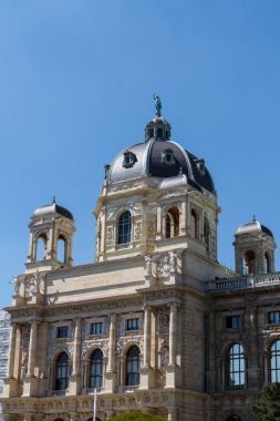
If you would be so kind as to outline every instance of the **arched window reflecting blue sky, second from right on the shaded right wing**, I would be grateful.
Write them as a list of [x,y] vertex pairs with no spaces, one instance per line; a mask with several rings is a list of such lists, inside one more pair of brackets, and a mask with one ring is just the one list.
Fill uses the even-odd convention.
[[243,389],[245,387],[245,356],[243,347],[240,343],[235,343],[229,349],[229,379],[228,386],[230,389]]

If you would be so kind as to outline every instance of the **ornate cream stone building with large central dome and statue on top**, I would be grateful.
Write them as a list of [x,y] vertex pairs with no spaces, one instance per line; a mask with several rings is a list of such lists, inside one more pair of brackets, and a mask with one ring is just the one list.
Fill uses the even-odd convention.
[[[39,207],[14,278],[4,421],[89,421],[127,411],[170,421],[252,421],[280,380],[280,274],[272,233],[235,233],[218,263],[220,207],[203,158],[156,114],[105,166],[95,263],[73,266],[70,210]],[[61,253],[63,250],[63,253]]]

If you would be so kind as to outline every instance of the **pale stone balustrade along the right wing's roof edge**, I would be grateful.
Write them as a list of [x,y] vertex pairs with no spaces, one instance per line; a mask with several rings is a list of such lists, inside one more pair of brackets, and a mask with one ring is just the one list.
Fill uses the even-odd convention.
[[240,278],[218,279],[209,285],[210,292],[228,291],[232,289],[257,288],[265,285],[280,284],[280,273],[249,275]]

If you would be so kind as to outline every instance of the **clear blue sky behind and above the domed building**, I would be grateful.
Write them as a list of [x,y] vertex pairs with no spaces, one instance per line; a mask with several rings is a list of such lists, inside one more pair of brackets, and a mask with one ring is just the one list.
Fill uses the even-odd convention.
[[75,217],[74,264],[93,261],[104,164],[144,140],[154,92],[212,174],[220,261],[252,214],[280,243],[279,21],[279,0],[0,1],[0,307],[53,195]]

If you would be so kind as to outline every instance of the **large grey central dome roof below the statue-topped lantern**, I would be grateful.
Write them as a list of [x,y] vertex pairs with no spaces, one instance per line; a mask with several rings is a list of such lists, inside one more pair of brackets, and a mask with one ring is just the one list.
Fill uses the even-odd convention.
[[178,143],[157,136],[123,150],[107,166],[106,179],[108,183],[118,183],[142,176],[168,178],[179,173],[187,176],[188,184],[193,187],[215,193],[204,160],[197,158]]

